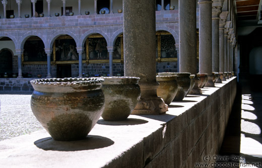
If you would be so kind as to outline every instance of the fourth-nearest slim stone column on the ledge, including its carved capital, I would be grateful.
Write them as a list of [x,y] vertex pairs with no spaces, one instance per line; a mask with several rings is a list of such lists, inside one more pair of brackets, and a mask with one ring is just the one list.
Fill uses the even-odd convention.
[[212,71],[219,72],[219,15],[222,4],[215,4],[214,2],[212,4]]

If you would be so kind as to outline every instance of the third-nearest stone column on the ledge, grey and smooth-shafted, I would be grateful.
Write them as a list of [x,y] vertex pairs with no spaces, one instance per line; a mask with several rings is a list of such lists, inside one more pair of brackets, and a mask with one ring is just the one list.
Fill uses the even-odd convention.
[[206,87],[215,87],[212,75],[212,1],[199,0],[199,70],[208,74]]

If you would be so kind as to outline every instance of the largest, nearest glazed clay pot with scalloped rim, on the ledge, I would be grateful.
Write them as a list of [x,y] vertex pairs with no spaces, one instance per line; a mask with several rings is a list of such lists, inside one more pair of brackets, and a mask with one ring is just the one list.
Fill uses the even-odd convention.
[[54,140],[84,139],[104,110],[101,78],[31,80],[31,109]]

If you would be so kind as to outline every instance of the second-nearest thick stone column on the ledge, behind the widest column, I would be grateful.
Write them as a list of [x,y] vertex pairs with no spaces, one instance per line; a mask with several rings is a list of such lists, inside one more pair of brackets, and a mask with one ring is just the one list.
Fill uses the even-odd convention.
[[197,76],[197,4],[195,0],[179,1],[179,72],[195,74],[195,82],[190,94],[202,94]]

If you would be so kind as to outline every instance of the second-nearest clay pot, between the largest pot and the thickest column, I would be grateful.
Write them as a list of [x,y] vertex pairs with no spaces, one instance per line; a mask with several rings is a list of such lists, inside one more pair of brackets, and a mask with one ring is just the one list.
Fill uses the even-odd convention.
[[125,120],[136,107],[141,96],[139,77],[103,77],[102,90],[105,109],[102,118],[108,121]]

